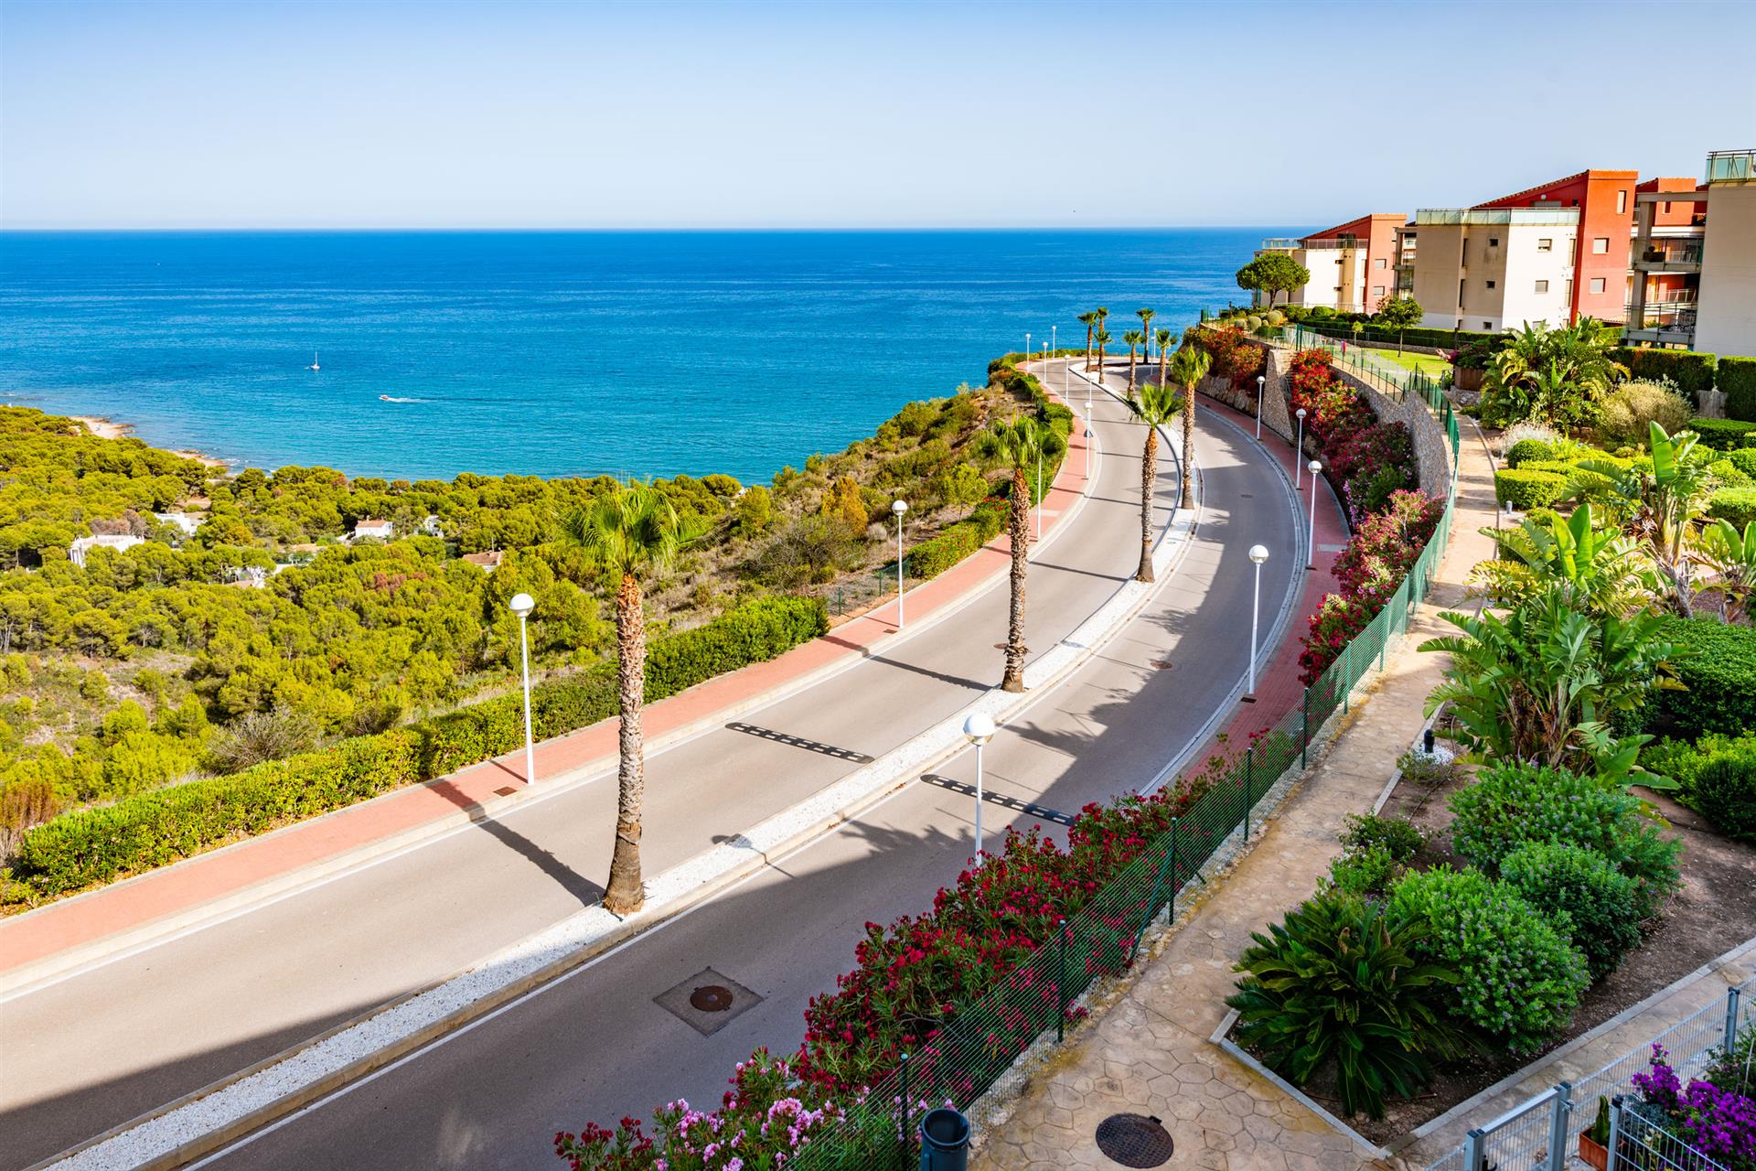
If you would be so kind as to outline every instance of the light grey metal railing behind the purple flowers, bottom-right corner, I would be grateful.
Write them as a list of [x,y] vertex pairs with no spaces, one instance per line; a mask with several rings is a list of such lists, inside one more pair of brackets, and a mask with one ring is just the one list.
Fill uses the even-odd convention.
[[[1442,1159],[1428,1164],[1428,1171],[1565,1171],[1582,1166],[1575,1160],[1579,1136],[1596,1118],[1598,1097],[1616,1099],[1633,1088],[1633,1076],[1647,1067],[1652,1045],[1665,1046],[1665,1060],[1686,1085],[1705,1069],[1716,1053],[1730,1052],[1745,1031],[1756,1027],[1756,980],[1730,988],[1723,1001],[1714,1001],[1677,1024],[1628,1050],[1610,1064],[1579,1081],[1561,1081],[1536,1097],[1514,1106],[1498,1118],[1470,1131],[1468,1138]],[[1626,1167],[1647,1167],[1642,1162],[1624,1162]],[[1652,1167],[1672,1164],[1656,1162]],[[1702,1171],[1714,1164],[1677,1164],[1688,1171]]]

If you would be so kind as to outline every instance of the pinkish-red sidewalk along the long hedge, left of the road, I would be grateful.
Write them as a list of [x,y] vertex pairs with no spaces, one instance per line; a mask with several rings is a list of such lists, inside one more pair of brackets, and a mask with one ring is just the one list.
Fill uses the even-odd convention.
[[[1073,514],[1075,504],[1085,495],[1089,471],[1090,446],[1076,434],[1041,504],[1043,539],[1054,535]],[[1001,534],[938,578],[911,586],[910,632],[962,606],[1004,574],[1010,564],[1011,544]],[[778,658],[752,664],[650,704],[644,720],[648,750],[695,729],[723,723],[859,658],[880,655],[894,636],[897,627],[892,599]],[[371,857],[376,846],[509,809],[525,794],[548,792],[557,783],[611,767],[616,758],[616,720],[602,720],[539,743],[534,790],[525,788],[525,753],[518,750],[0,920],[0,978],[76,948],[90,952],[93,946],[107,946],[107,939],[132,938],[153,925],[181,923],[209,911],[225,913],[234,904],[248,904],[299,883],[307,873],[318,876]]]

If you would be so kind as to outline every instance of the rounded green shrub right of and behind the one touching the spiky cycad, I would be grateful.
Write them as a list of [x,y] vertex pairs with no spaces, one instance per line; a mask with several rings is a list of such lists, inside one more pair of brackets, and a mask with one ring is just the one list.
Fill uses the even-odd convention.
[[1500,860],[1500,876],[1544,915],[1572,923],[1593,980],[1640,946],[1640,883],[1596,850],[1533,841]]

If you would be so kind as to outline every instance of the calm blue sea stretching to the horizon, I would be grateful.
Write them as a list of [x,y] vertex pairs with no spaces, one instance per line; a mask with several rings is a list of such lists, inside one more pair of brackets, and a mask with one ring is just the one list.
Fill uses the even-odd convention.
[[755,481],[1092,305],[1180,330],[1284,233],[0,233],[0,400],[265,469]]

